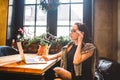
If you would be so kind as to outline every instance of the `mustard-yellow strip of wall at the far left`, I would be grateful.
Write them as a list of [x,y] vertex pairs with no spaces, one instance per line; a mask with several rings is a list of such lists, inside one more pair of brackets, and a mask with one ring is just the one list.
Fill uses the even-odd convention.
[[0,46],[6,45],[8,0],[0,0]]

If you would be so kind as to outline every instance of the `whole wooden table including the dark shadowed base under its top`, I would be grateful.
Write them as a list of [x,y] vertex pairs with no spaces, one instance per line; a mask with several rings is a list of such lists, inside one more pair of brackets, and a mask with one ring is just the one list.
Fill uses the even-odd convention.
[[[36,54],[25,54],[25,57],[38,57]],[[51,55],[48,55],[51,56]],[[45,64],[23,64],[20,54],[0,57],[0,79],[2,80],[49,80],[51,68],[60,59],[48,61]],[[46,77],[46,73],[48,76]],[[44,74],[45,73],[45,74]],[[49,78],[49,79],[46,79]],[[52,80],[52,79],[50,79]]]

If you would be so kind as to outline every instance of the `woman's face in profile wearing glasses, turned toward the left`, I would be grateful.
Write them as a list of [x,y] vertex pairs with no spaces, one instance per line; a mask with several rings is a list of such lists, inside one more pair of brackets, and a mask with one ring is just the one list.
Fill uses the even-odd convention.
[[78,33],[76,32],[78,30],[77,25],[73,25],[70,30],[70,39],[71,40],[77,40],[78,39]]

